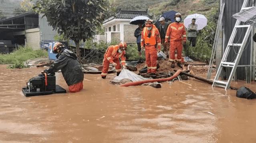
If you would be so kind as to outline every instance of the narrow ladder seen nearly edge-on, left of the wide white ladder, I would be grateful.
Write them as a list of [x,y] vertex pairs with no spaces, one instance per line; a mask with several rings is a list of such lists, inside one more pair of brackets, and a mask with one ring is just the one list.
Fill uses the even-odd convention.
[[218,44],[220,29],[222,27],[221,24],[222,24],[224,8],[225,8],[225,3],[223,3],[220,7],[220,15],[219,15],[219,20],[218,20],[216,33],[215,33],[215,38],[214,38],[214,45],[212,46],[212,57],[211,57],[211,60],[210,60],[210,63],[209,63],[209,68],[208,68],[208,72],[207,72],[207,79],[211,79],[211,76],[212,76],[212,66],[214,64],[214,56],[215,56],[215,52],[216,52],[216,48],[217,48],[217,44]]

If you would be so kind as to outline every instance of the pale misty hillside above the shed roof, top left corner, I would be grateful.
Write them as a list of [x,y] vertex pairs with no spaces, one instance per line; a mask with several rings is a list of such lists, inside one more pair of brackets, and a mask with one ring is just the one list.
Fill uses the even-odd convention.
[[[13,12],[15,8],[20,8],[20,2],[22,0],[0,0],[0,11]],[[4,16],[11,17],[14,16],[13,13],[5,13]]]

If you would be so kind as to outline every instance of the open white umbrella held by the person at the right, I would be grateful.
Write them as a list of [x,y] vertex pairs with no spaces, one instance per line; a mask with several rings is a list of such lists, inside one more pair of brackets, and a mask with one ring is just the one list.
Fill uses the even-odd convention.
[[185,27],[188,28],[188,25],[191,24],[191,20],[195,18],[196,24],[198,25],[198,30],[203,29],[207,25],[207,18],[202,14],[191,14],[187,16],[184,20]]

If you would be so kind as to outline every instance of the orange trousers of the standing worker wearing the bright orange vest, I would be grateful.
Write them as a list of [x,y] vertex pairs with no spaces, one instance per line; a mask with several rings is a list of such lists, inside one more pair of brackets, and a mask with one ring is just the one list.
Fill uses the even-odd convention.
[[145,57],[147,64],[147,73],[156,73],[157,49],[155,48],[155,45],[145,45]]

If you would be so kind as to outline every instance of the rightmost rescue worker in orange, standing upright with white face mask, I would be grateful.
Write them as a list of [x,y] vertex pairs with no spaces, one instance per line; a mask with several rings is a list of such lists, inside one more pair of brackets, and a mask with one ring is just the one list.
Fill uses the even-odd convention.
[[181,14],[176,13],[174,16],[175,22],[171,23],[165,35],[165,43],[170,42],[170,57],[171,68],[174,68],[175,50],[177,50],[177,66],[182,68],[181,65],[181,52],[182,45],[186,43],[186,30],[184,24],[181,22]]

